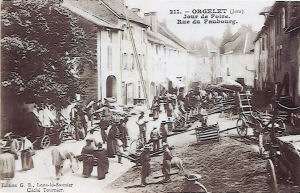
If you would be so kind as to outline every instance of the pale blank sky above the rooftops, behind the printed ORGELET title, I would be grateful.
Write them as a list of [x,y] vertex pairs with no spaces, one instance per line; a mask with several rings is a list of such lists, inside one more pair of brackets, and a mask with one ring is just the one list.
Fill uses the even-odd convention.
[[[229,16],[230,19],[236,20],[237,23],[231,25],[232,32],[235,33],[242,24],[251,25],[254,31],[259,31],[264,23],[264,16],[258,13],[266,6],[272,6],[274,1],[204,1],[204,0],[125,0],[125,4],[129,8],[140,8],[141,13],[157,12],[157,17],[160,22],[165,21],[167,27],[174,32],[180,39],[190,42],[201,40],[206,36],[214,36],[222,38],[226,24],[204,24],[204,19],[200,19],[200,24],[177,24],[178,19],[182,19],[185,11],[189,11],[188,15],[193,14],[193,10],[199,9],[227,9],[226,14],[215,14],[216,16]],[[170,10],[179,10],[181,14],[170,14]],[[231,10],[239,13],[230,14]],[[242,13],[241,13],[242,12]],[[211,17],[211,14],[207,14]],[[208,18],[210,19],[210,18]],[[213,18],[214,20],[217,18]],[[190,19],[192,22],[194,19]],[[199,20],[199,19],[196,19]]]

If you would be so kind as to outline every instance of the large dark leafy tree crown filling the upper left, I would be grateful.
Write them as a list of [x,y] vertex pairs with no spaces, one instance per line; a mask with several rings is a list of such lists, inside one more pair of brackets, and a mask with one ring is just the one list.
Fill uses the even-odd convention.
[[25,103],[66,107],[84,92],[91,63],[77,19],[54,0],[11,1],[1,11],[2,91]]

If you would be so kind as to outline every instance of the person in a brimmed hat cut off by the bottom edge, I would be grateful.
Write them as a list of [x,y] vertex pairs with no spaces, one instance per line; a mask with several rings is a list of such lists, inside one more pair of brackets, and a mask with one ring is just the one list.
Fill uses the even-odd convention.
[[202,176],[199,174],[190,174],[186,176],[186,184],[182,189],[182,192],[207,192],[207,189],[198,180]]

